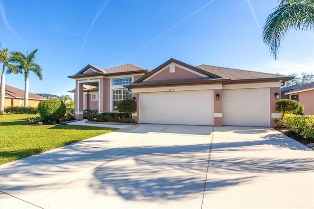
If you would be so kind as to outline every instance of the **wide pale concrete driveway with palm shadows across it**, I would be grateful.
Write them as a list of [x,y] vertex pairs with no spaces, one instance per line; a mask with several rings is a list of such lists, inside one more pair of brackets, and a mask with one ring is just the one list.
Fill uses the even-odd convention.
[[273,129],[136,125],[0,166],[0,209],[314,208],[314,152]]

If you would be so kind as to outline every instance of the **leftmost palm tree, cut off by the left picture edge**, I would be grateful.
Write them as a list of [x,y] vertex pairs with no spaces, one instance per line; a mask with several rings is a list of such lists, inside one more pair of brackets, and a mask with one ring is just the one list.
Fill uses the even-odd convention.
[[5,97],[5,67],[7,67],[6,73],[22,73],[22,71],[17,68],[15,65],[10,64],[12,61],[10,53],[8,53],[8,48],[0,50],[0,62],[2,65],[2,74],[1,74],[1,93],[0,93],[0,112],[4,111],[4,97]]

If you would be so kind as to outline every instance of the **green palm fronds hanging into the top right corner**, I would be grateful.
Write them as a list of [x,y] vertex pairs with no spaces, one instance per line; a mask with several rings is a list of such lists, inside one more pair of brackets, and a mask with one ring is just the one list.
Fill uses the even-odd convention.
[[314,0],[281,0],[267,17],[262,37],[275,59],[281,41],[291,28],[314,30]]

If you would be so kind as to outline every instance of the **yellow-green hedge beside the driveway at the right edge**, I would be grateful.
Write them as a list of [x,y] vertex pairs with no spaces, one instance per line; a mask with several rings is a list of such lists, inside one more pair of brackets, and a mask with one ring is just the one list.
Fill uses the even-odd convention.
[[304,138],[314,138],[314,115],[286,114],[282,123]]

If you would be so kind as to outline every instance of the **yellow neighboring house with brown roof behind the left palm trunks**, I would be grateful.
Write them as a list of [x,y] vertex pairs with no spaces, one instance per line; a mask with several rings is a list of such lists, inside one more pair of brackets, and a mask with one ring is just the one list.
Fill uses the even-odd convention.
[[[5,85],[4,108],[8,106],[24,106],[24,94],[24,90]],[[30,92],[28,93],[29,106],[37,107],[42,100],[46,100],[46,98]]]

